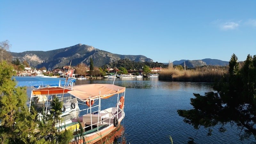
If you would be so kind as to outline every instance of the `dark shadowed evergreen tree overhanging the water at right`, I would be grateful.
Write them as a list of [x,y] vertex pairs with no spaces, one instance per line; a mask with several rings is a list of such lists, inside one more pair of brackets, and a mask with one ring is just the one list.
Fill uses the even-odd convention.
[[206,92],[204,96],[194,94],[190,110],[178,110],[184,122],[195,129],[200,126],[209,128],[220,124],[220,132],[225,132],[225,125],[236,124],[241,128],[241,139],[256,137],[256,56],[248,55],[239,67],[235,54],[229,62],[229,73],[214,84],[217,92]]

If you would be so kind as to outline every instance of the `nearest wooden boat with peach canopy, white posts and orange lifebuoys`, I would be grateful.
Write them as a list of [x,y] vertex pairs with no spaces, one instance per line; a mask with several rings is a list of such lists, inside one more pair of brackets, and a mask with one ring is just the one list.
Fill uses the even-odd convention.
[[[124,119],[125,87],[113,84],[84,84],[74,86],[68,93],[85,102],[88,107],[83,109],[87,114],[71,120],[79,121],[83,129],[77,133],[73,143],[95,143],[114,131]],[[117,97],[116,107],[101,110],[101,100],[112,96]]]

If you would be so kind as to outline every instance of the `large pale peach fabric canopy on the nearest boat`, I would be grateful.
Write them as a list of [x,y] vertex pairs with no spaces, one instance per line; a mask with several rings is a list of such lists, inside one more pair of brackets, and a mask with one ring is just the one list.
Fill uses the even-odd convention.
[[80,100],[86,100],[91,97],[94,98],[109,98],[114,94],[122,93],[125,91],[125,87],[113,85],[113,84],[81,84],[73,86],[73,91],[68,93],[74,95]]

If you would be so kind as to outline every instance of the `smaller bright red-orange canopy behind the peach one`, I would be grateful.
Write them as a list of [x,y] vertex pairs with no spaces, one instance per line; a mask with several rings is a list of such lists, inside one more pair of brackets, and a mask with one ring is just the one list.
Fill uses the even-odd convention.
[[[62,94],[64,88],[60,87],[47,87],[47,88],[42,88],[38,90],[33,90],[32,95],[51,95],[51,94]],[[71,91],[70,89],[65,89],[64,93],[67,93],[68,91]]]

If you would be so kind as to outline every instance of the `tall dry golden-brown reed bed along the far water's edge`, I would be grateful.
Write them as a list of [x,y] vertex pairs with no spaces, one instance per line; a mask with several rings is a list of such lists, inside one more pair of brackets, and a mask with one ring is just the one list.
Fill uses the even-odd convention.
[[207,66],[188,70],[165,68],[159,73],[160,80],[214,82],[228,73],[228,67]]

